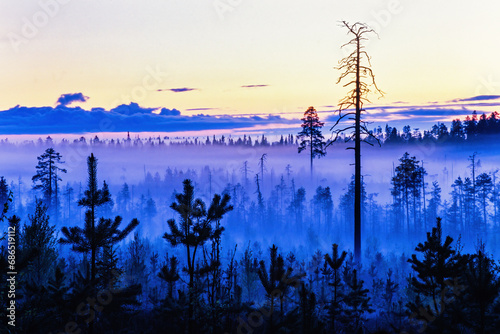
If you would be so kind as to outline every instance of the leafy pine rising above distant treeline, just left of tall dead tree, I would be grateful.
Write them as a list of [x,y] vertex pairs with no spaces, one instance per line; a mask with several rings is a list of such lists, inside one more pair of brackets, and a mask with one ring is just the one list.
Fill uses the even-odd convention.
[[313,175],[313,160],[326,155],[326,142],[321,134],[321,128],[325,123],[319,121],[318,113],[313,107],[309,107],[301,118],[302,131],[297,135],[299,143],[299,153],[309,147],[309,157],[311,159],[311,177]]

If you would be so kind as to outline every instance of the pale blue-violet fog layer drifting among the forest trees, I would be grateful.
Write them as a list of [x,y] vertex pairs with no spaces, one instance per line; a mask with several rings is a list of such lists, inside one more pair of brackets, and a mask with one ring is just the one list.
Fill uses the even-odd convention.
[[[40,196],[32,190],[32,176],[35,174],[37,156],[41,155],[48,147],[54,147],[62,155],[62,168],[67,173],[61,174],[60,187],[60,219],[59,226],[64,224],[82,224],[81,208],[76,201],[79,194],[85,189],[87,179],[86,158],[93,153],[98,159],[99,182],[106,181],[110,187],[114,207],[113,213],[126,218],[137,217],[141,220],[140,231],[151,240],[159,240],[166,232],[166,221],[175,218],[169,205],[173,201],[173,194],[182,191],[182,181],[190,178],[194,181],[196,195],[209,203],[215,193],[228,192],[233,198],[233,205],[241,206],[245,216],[242,226],[238,214],[232,212],[226,221],[227,229],[224,241],[228,248],[238,244],[243,246],[248,242],[260,242],[263,247],[273,242],[282,244],[287,249],[302,248],[306,254],[312,253],[316,248],[327,250],[332,242],[337,242],[344,249],[353,249],[352,227],[349,223],[341,222],[343,213],[340,208],[340,199],[347,192],[351,176],[354,173],[354,154],[347,149],[349,144],[334,144],[327,150],[327,155],[314,160],[314,174],[311,177],[309,170],[309,156],[306,152],[298,154],[297,146],[243,146],[243,145],[194,145],[182,143],[182,140],[157,141],[151,139],[134,140],[127,142],[119,138],[120,145],[110,144],[109,140],[92,142],[94,135],[87,135],[85,143],[54,139],[53,141],[40,140],[38,142],[9,142],[3,141],[0,145],[0,175],[4,176],[11,189],[14,191],[14,204],[25,208],[32,208],[34,198]],[[79,138],[79,137],[78,137]],[[217,137],[220,138],[220,137]],[[210,138],[212,139],[212,138]],[[190,138],[189,141],[192,141]],[[197,139],[205,143],[206,137]],[[161,145],[158,145],[161,142]],[[180,143],[179,143],[180,142]],[[476,175],[482,172],[493,172],[500,166],[500,156],[484,145],[364,145],[362,148],[362,174],[366,184],[366,193],[374,199],[379,208],[378,224],[380,231],[389,232],[390,221],[387,221],[387,212],[392,204],[391,178],[394,167],[399,164],[399,159],[405,152],[415,156],[427,171],[425,183],[430,192],[434,181],[441,187],[442,202],[450,201],[449,193],[451,184],[458,177],[469,177],[469,156],[477,152],[479,163]],[[265,155],[264,170],[260,168],[260,158]],[[247,163],[247,176],[245,178],[244,164]],[[263,173],[262,173],[263,172]],[[266,207],[276,205],[279,195],[276,194],[277,186],[282,182],[284,189],[279,198],[281,204],[277,212],[282,217],[277,218],[280,223],[273,222],[273,214],[266,214],[268,221],[265,233],[259,233],[259,227],[252,221],[252,205],[257,203],[256,174],[260,180]],[[118,205],[120,192],[124,183],[130,189],[130,205],[126,212],[120,212]],[[241,188],[236,188],[236,185]],[[67,187],[73,188],[70,198],[64,191]],[[329,227],[325,222],[316,222],[313,197],[316,188],[330,187],[333,199],[333,215]],[[287,223],[293,219],[287,207],[293,198],[293,190],[303,187],[305,195],[304,223]],[[18,198],[20,195],[20,199]],[[278,197],[277,197],[278,196]],[[68,200],[69,198],[69,200]],[[153,199],[156,213],[145,218],[145,201]],[[242,199],[244,198],[244,199]],[[141,204],[142,201],[142,204]],[[240,203],[241,202],[241,203]],[[240,204],[239,204],[240,203]],[[253,203],[253,204],[252,204]],[[373,203],[372,203],[373,204]],[[76,210],[76,211],[75,211]],[[268,209],[266,209],[268,210]],[[345,209],[344,209],[345,210]],[[384,211],[385,210],[385,211]],[[492,210],[491,205],[489,210]],[[71,211],[78,212],[77,217],[68,217]],[[242,212],[243,212],[242,211]],[[28,210],[29,212],[29,210]],[[267,211],[266,211],[267,212]],[[385,212],[385,213],[384,213]],[[276,218],[276,217],[275,217]],[[374,219],[374,218],[372,218]],[[239,221],[238,221],[239,220]],[[344,218],[345,220],[345,218]],[[234,226],[233,226],[234,225]],[[386,226],[387,225],[387,226]],[[385,228],[385,229],[384,229]],[[365,227],[365,229],[367,229]],[[379,231],[379,232],[380,232]],[[306,233],[306,235],[304,235]],[[451,231],[450,231],[451,234]],[[401,242],[396,239],[387,239],[388,233],[376,236],[365,233],[363,239],[377,243],[381,250],[411,252],[417,241],[425,236],[425,231],[414,233],[407,240]],[[458,237],[455,235],[455,237]],[[494,236],[482,236],[487,246],[493,246]],[[375,240],[375,239],[376,240]],[[311,243],[311,240],[314,241]],[[477,236],[476,236],[477,239]],[[374,241],[375,240],[375,241]],[[489,244],[488,244],[489,243]],[[161,244],[158,241],[158,244]],[[473,247],[473,242],[465,244]],[[494,250],[494,247],[491,247]]]

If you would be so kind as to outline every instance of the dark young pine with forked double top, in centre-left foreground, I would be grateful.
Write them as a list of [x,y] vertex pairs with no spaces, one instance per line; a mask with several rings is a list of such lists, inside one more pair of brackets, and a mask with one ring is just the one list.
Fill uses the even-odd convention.
[[[176,194],[176,202],[170,207],[179,214],[180,222],[175,219],[167,221],[170,233],[166,232],[163,238],[172,246],[184,245],[186,247],[187,272],[189,275],[189,308],[188,308],[188,332],[193,333],[193,302],[195,298],[195,272],[196,272],[196,252],[209,240],[217,240],[224,231],[220,226],[220,220],[233,209],[228,205],[230,196],[224,194],[214,195],[209,209],[199,198],[194,197],[194,186],[189,179],[183,182],[184,191]],[[212,226],[215,224],[215,226]]]

